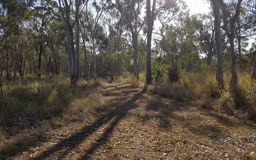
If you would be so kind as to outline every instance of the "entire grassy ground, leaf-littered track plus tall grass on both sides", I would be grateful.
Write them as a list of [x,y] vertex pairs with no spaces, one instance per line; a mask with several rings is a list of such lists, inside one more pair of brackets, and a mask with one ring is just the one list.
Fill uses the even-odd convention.
[[[6,155],[0,159],[9,155],[28,159],[43,153],[49,153],[49,159],[63,154],[63,159],[86,159],[85,154],[91,159],[122,159],[123,155],[126,159],[255,159],[250,154],[255,150],[255,123],[243,118],[248,110],[239,109],[228,83],[219,90],[211,76],[183,74],[177,83],[131,82],[133,87],[108,84],[103,89],[104,107],[99,81],[80,92],[73,92],[63,78],[33,79],[26,87],[5,85],[12,89],[4,90],[11,99],[7,104],[25,103],[7,105],[8,112],[17,114],[21,122],[31,121],[31,116],[38,125],[7,127],[4,132],[10,138],[0,145],[0,155]],[[242,84],[245,80],[247,84]],[[241,98],[252,108],[254,83],[247,76],[239,79]],[[79,81],[79,88],[86,85],[83,79]],[[141,91],[143,87],[148,92]],[[20,88],[32,98],[22,100],[13,94]],[[52,148],[56,150],[51,152]]]

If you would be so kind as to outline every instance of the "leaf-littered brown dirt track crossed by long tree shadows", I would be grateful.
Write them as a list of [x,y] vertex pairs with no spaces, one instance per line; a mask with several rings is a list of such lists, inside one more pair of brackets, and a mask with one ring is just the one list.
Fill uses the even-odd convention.
[[[28,134],[10,159],[256,159],[253,122],[135,88],[107,84],[95,120],[44,138]],[[214,101],[212,101],[214,102]],[[17,142],[18,143],[18,142]]]

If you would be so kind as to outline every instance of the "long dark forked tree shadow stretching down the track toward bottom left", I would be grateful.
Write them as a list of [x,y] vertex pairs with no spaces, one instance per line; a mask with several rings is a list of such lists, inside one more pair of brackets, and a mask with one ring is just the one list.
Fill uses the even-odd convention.
[[78,146],[84,139],[88,137],[88,135],[91,135],[97,128],[103,126],[104,124],[108,123],[110,120],[114,118],[114,121],[112,121],[112,124],[108,127],[108,129],[103,133],[103,135],[97,140],[97,144],[92,145],[89,150],[84,154],[82,159],[85,159],[87,156],[89,156],[90,153],[92,153],[98,146],[100,146],[100,141],[106,140],[109,137],[109,134],[112,133],[114,127],[118,124],[118,122],[123,119],[127,112],[133,108],[136,108],[137,105],[135,105],[135,101],[142,96],[142,94],[145,93],[145,91],[141,91],[137,93],[134,97],[132,97],[130,100],[128,100],[125,104],[121,106],[116,106],[113,109],[111,109],[108,113],[103,114],[100,118],[98,118],[94,123],[92,123],[89,126],[85,126],[81,129],[81,131],[76,132],[75,134],[71,135],[69,138],[64,139],[60,141],[57,145],[53,146],[52,148],[49,148],[47,151],[44,151],[41,155],[35,157],[34,159],[45,159],[52,154],[55,154],[57,151],[60,151],[63,149],[63,147],[67,146],[68,149],[64,150],[59,154],[57,159],[64,158],[69,150],[72,150],[76,146]]

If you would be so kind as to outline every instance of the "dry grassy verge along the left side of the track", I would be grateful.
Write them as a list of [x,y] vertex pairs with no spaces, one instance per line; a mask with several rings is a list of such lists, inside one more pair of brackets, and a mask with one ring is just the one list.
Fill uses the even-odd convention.
[[[7,105],[0,107],[1,153],[19,148],[12,140],[5,141],[6,133],[8,137],[16,137],[15,135],[23,134],[27,130],[35,134],[45,134],[52,129],[84,120],[84,114],[87,119],[93,119],[103,104],[99,81],[87,85],[85,79],[80,79],[78,90],[82,90],[79,92],[73,92],[70,88],[68,77],[49,76],[36,79],[28,75],[24,77],[24,83],[22,85],[16,81],[16,85],[13,85],[7,80],[3,83],[4,100]],[[38,129],[34,130],[26,123],[36,124]],[[19,141],[18,139],[15,141]]]

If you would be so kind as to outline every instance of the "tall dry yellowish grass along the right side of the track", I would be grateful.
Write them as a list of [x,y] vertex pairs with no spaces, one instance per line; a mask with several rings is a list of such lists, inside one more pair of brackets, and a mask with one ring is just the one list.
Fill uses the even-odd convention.
[[[144,75],[144,74],[141,74]],[[256,81],[249,73],[238,73],[236,96],[230,92],[230,74],[224,74],[225,86],[219,87],[215,73],[183,73],[178,82],[169,83],[168,76],[163,76],[161,83],[144,85],[144,89],[153,94],[176,99],[181,102],[202,99],[216,99],[213,108],[220,112],[242,118],[256,120]],[[140,76],[142,81],[143,76]],[[135,87],[142,87],[141,81],[131,82]],[[217,104],[217,105],[216,105]],[[207,107],[207,106],[206,106]],[[209,106],[208,106],[209,107]]]

